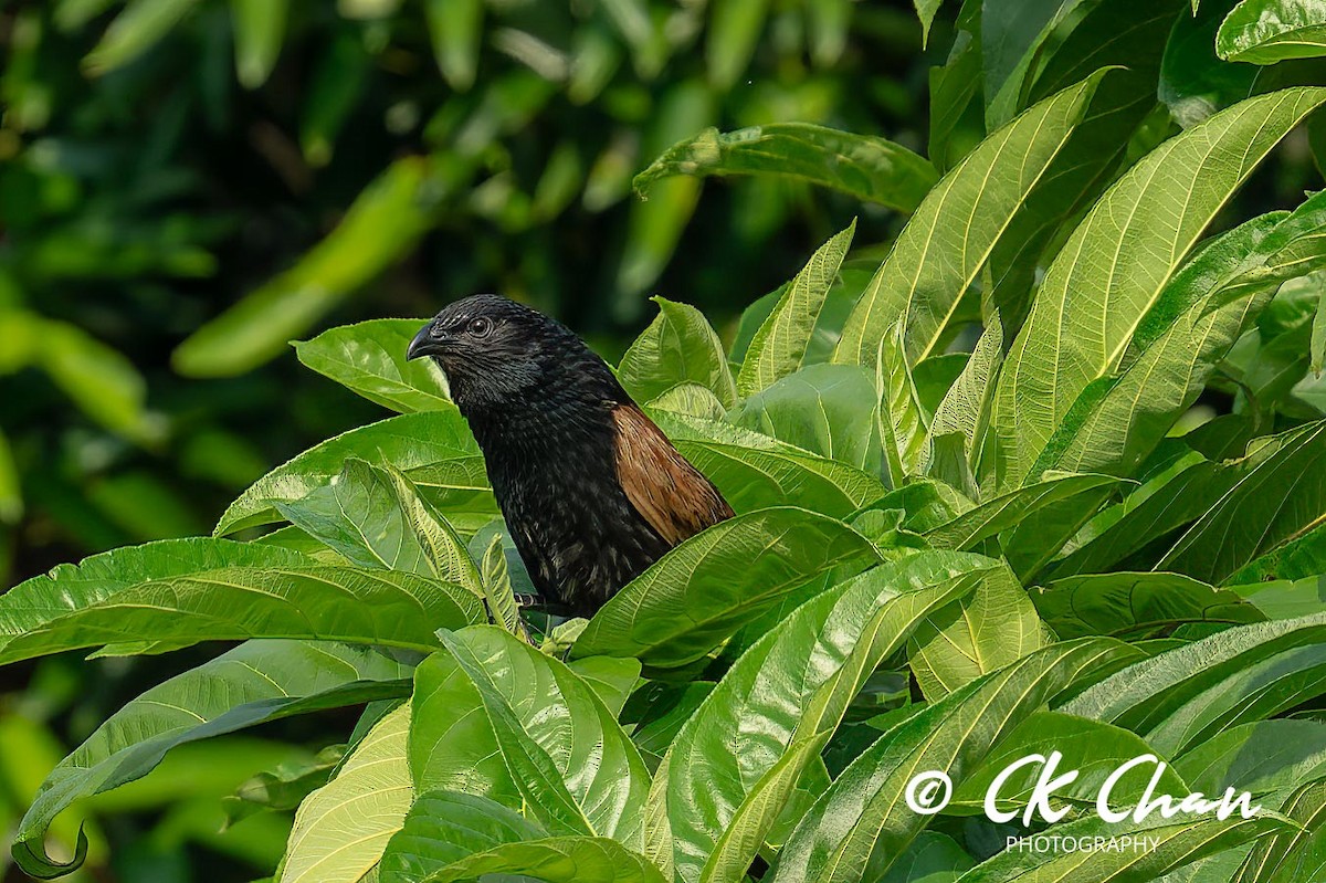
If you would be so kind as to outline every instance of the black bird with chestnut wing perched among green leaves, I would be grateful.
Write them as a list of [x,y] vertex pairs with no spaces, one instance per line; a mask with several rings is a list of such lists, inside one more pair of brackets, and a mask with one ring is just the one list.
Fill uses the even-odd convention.
[[459,300],[406,358],[442,369],[530,581],[573,617],[733,514],[607,363],[530,306]]

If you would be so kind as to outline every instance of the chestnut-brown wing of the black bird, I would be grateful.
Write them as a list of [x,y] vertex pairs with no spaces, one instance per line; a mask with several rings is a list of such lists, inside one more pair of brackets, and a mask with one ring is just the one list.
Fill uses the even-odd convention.
[[732,506],[719,489],[672,447],[635,404],[613,411],[617,424],[617,479],[635,510],[671,545],[724,518]]

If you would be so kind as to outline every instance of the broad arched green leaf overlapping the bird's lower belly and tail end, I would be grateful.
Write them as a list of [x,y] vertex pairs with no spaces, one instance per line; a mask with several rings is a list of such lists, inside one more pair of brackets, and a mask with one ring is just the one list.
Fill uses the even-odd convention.
[[827,570],[878,559],[870,541],[834,518],[793,508],[740,514],[627,583],[594,614],[572,655],[683,666]]

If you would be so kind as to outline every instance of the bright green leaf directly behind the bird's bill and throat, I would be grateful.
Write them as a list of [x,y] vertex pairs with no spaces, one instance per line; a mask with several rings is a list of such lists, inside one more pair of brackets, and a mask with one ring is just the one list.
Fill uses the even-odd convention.
[[370,320],[294,343],[300,362],[382,407],[410,414],[451,407],[447,379],[432,359],[406,361],[426,320]]

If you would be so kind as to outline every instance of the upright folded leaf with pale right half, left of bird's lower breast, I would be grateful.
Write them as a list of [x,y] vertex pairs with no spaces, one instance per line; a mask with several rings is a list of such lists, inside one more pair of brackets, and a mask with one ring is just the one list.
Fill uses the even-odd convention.
[[390,465],[349,457],[330,484],[276,505],[355,566],[436,577],[481,594],[479,571],[460,537]]

